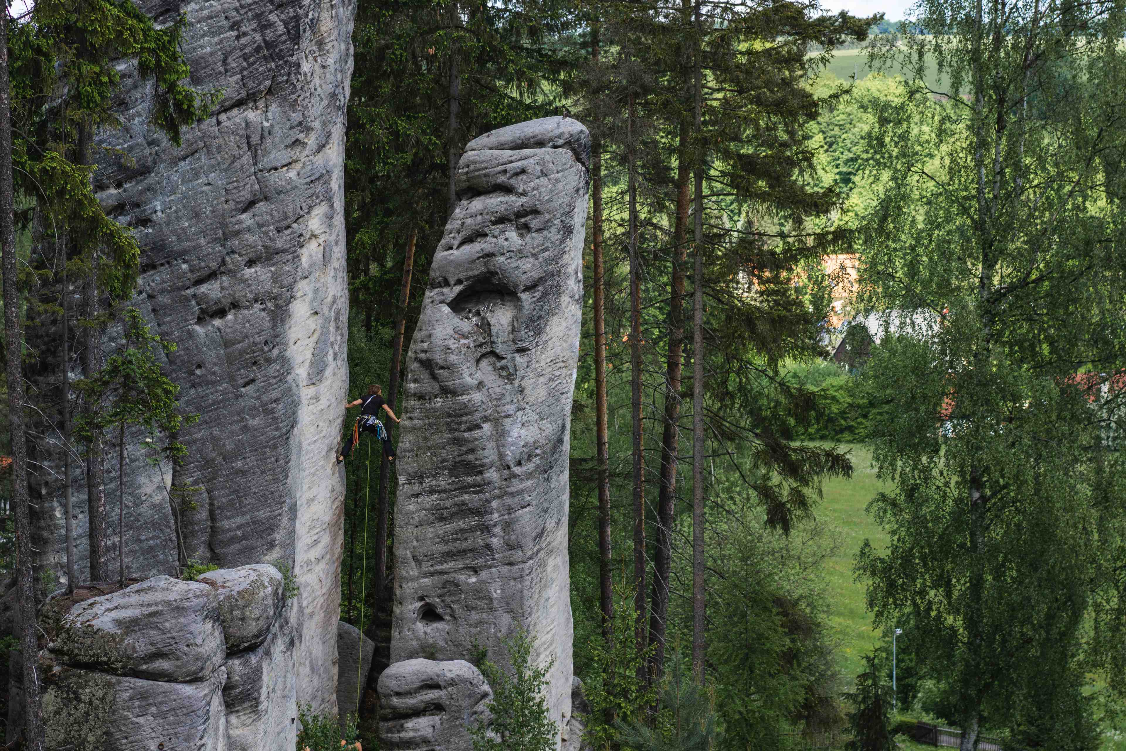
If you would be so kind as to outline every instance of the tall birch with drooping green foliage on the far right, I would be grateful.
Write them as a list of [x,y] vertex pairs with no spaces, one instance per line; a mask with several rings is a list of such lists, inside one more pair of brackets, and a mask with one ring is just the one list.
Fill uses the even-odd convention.
[[[928,34],[877,53],[936,60],[944,96],[919,77],[867,102],[882,163],[861,286],[868,307],[935,325],[885,338],[861,375],[891,406],[873,437],[894,488],[872,503],[891,544],[858,565],[877,624],[912,618],[958,724],[1093,748],[1100,703],[1126,696],[1108,567],[1126,554],[1126,488],[1099,428],[1121,414],[1084,385],[1126,364],[1126,332],[1103,323],[1126,296],[1112,93],[1126,19],[1118,6],[966,15],[924,0],[915,20]],[[1085,691],[1088,676],[1106,690]]]

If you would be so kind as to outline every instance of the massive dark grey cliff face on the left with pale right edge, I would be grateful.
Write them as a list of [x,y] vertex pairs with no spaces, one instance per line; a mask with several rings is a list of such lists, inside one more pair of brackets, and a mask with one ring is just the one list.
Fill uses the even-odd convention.
[[[318,712],[336,710],[343,483],[333,454],[348,383],[343,134],[355,1],[138,0],[158,24],[186,15],[191,83],[222,99],[175,147],[148,125],[152,87],[125,70],[124,127],[100,134],[96,150],[99,196],[142,248],[134,304],[179,346],[167,372],[182,410],[200,415],[179,435],[185,465],[163,473],[145,461],[141,436],[126,436],[128,574],[172,574],[186,560],[292,570],[298,692]],[[108,347],[115,332],[106,337]],[[35,546],[41,566],[64,572],[52,450],[36,456],[54,474],[38,473],[33,488]],[[107,453],[116,457],[114,442]],[[170,498],[173,484],[197,490]],[[107,507],[113,531],[116,462]],[[84,578],[81,484],[74,508]],[[111,547],[116,561],[116,537]],[[232,638],[239,647],[257,636]]]

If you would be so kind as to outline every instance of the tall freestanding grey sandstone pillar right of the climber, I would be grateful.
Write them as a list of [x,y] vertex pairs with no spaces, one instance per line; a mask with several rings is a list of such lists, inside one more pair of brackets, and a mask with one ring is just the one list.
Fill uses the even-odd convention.
[[466,147],[409,356],[395,508],[392,662],[480,645],[503,663],[502,637],[525,629],[536,662],[552,661],[561,726],[589,150],[587,129],[564,117]]

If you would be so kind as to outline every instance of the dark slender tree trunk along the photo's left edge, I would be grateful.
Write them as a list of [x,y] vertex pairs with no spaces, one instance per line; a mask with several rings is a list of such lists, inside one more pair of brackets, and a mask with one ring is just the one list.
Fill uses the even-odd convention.
[[8,73],[8,11],[0,12],[0,245],[3,248],[3,316],[7,348],[8,427],[11,433],[12,498],[16,525],[16,601],[24,673],[24,740],[42,751],[43,698],[39,694],[39,640],[32,567],[32,519],[27,498],[27,439],[24,435],[23,336],[16,286],[15,186],[11,175],[11,79]]

